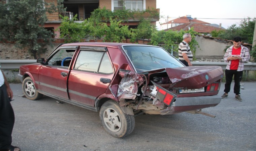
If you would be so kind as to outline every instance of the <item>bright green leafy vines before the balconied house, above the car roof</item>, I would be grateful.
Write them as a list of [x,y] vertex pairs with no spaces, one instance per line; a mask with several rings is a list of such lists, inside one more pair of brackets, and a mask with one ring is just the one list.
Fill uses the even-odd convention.
[[[152,33],[156,31],[156,27],[150,24],[150,19],[141,19],[136,29],[129,29],[128,26],[121,24],[124,19],[133,17],[134,13],[130,10],[111,12],[105,7],[98,8],[92,12],[90,18],[85,19],[82,23],[75,22],[76,17],[73,17],[72,20],[62,17],[63,21],[58,30],[61,31],[60,37],[64,38],[66,43],[79,42],[87,37],[110,42],[122,42],[126,38],[131,38],[132,42],[137,39],[150,39]],[[106,22],[109,22],[110,25],[107,26]]]

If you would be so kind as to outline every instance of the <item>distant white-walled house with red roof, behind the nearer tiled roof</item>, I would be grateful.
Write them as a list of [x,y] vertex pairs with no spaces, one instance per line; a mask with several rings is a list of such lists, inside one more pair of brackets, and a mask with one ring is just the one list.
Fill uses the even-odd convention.
[[181,24],[189,23],[189,22],[196,22],[196,23],[201,23],[201,24],[206,24],[206,25],[211,24],[209,22],[204,22],[204,21],[198,20],[197,18],[192,18],[191,15],[186,15],[186,16],[182,16],[182,17],[167,21],[165,23],[161,23],[160,29],[165,30],[165,29],[169,29],[169,28],[179,26]]

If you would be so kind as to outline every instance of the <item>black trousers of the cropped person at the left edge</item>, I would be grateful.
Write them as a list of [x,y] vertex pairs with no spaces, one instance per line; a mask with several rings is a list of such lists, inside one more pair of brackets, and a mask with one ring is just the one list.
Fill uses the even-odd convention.
[[14,113],[9,101],[6,86],[0,87],[0,150],[9,150],[14,125]]

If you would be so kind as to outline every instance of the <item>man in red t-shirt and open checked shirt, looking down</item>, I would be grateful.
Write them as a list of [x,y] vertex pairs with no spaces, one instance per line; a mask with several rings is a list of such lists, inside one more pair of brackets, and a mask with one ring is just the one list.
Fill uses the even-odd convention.
[[248,48],[241,45],[241,41],[241,37],[235,37],[233,40],[233,46],[226,50],[223,57],[224,61],[227,62],[227,66],[225,70],[225,93],[221,96],[222,99],[228,97],[228,92],[230,91],[230,85],[234,76],[235,99],[242,101],[240,96],[240,81],[243,77],[244,62],[250,60],[250,53]]

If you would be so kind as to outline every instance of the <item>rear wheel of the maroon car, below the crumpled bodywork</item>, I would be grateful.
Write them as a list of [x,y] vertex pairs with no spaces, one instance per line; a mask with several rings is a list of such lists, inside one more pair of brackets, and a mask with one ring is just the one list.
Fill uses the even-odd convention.
[[135,126],[134,116],[125,114],[119,103],[114,100],[109,100],[101,106],[100,120],[105,131],[117,138],[131,134]]

